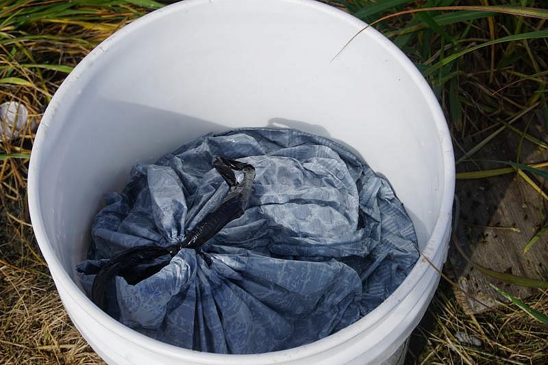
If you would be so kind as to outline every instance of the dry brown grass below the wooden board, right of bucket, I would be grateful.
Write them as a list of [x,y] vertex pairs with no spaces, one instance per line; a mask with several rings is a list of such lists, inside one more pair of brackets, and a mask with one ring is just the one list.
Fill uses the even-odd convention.
[[[438,289],[427,315],[414,331],[415,349],[410,350],[409,363],[548,363],[548,327],[504,303],[492,312],[470,316],[447,287],[442,285]],[[548,312],[548,292],[527,303],[540,312]],[[466,343],[470,339],[464,336],[480,340],[481,344]],[[417,349],[422,351],[416,353]]]

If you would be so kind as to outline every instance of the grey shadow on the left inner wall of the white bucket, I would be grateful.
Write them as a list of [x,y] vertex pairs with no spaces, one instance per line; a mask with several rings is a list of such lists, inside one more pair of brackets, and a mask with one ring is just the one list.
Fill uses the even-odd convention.
[[[153,163],[185,142],[229,129],[149,105],[106,99],[88,105],[75,108],[73,123],[64,126],[62,141],[53,147],[55,159],[42,176],[42,184],[69,187],[44,192],[42,199],[55,207],[44,214],[51,241],[73,242],[53,249],[76,283],[74,268],[86,257],[93,218],[104,206],[103,194],[121,191],[134,164]],[[93,123],[86,122],[90,118]]]

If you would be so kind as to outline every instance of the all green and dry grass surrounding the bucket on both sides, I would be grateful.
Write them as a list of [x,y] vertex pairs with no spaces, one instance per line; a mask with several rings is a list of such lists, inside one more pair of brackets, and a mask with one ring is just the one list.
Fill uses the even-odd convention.
[[[447,117],[458,171],[474,166],[475,171],[459,172],[458,179],[514,174],[548,203],[543,187],[548,162],[527,160],[521,148],[530,144],[548,149],[548,11],[534,9],[548,8],[548,3],[327,2],[373,24],[425,75]],[[0,0],[0,103],[24,103],[38,122],[64,77],[93,47],[161,5],[149,0]],[[521,138],[514,160],[475,159],[503,133]],[[472,140],[476,142],[469,149],[461,147]],[[60,307],[29,226],[25,189],[33,141],[30,122],[21,138],[0,136],[0,202],[5,212],[0,214],[0,358],[6,363],[97,362]],[[546,231],[539,227],[534,233],[522,232],[525,249],[546,247]],[[527,303],[507,297],[511,302],[502,310],[477,318],[466,316],[445,292],[438,292],[431,308],[436,327],[424,330],[427,348],[415,354],[418,362],[548,362],[548,332],[530,318],[545,318],[546,291]],[[454,333],[463,330],[482,338],[484,347],[459,344]]]

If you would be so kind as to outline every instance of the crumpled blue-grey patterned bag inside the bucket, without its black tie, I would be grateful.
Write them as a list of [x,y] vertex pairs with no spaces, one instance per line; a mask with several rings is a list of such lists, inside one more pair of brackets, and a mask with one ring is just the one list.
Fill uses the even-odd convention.
[[236,129],[136,164],[122,192],[105,194],[77,266],[88,295],[109,257],[179,242],[219,205],[228,186],[212,167],[217,155],[256,168],[245,214],[202,247],[210,264],[182,249],[151,262],[166,266],[138,284],[116,277],[107,312],[124,325],[197,351],[288,349],[371,312],[418,259],[388,181],[341,144],[295,129]]

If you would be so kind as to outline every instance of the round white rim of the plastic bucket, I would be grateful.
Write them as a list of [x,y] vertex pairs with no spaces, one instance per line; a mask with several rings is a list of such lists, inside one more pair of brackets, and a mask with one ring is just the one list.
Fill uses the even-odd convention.
[[[227,0],[216,0],[216,1],[227,1]],[[312,8],[314,10],[319,10],[321,12],[328,13],[334,18],[338,18],[340,21],[345,21],[351,24],[353,27],[356,27],[356,32],[366,26],[366,23],[360,21],[360,19],[351,16],[338,10],[330,5],[320,3],[319,1],[314,0],[276,0],[284,1],[288,3],[297,3],[299,5]],[[423,279],[424,277],[430,275],[438,275],[436,268],[433,268],[431,264],[424,258],[419,258],[419,261],[416,262],[415,266],[412,268],[409,275],[403,281],[403,283],[386,299],[382,304],[375,308],[372,312],[366,316],[360,318],[356,323],[349,325],[345,329],[333,333],[330,336],[317,340],[310,344],[304,344],[299,347],[292,349],[286,349],[282,351],[273,351],[269,353],[260,353],[260,354],[251,354],[251,355],[225,355],[217,353],[205,353],[201,351],[194,351],[190,349],[184,349],[181,347],[176,347],[171,344],[166,344],[153,338],[149,338],[141,333],[122,325],[114,318],[110,317],[108,314],[99,309],[88,297],[82,292],[82,290],[77,286],[75,281],[71,278],[71,275],[66,272],[60,260],[55,255],[53,248],[50,244],[50,239],[47,236],[45,225],[42,219],[40,199],[38,197],[38,184],[40,181],[40,163],[42,162],[42,154],[40,150],[42,145],[45,144],[47,139],[47,131],[51,123],[55,123],[55,114],[60,107],[64,95],[70,90],[71,84],[80,77],[88,66],[90,66],[97,58],[99,58],[105,51],[108,51],[110,47],[115,45],[118,42],[124,40],[125,36],[134,32],[136,29],[146,27],[149,23],[154,21],[159,21],[163,16],[173,14],[174,12],[179,12],[182,10],[188,10],[195,6],[206,5],[211,3],[210,0],[186,0],[179,3],[174,3],[167,5],[164,8],[155,10],[136,21],[126,25],[119,31],[115,32],[101,42],[100,45],[95,47],[86,57],[79,62],[79,64],[74,68],[74,70],[66,77],[63,81],[60,88],[55,92],[51,102],[49,103],[42,121],[40,122],[40,127],[36,133],[36,138],[34,142],[33,151],[31,154],[29,162],[29,174],[28,174],[28,201],[29,201],[29,212],[34,228],[34,234],[36,235],[36,240],[42,254],[45,257],[45,260],[52,272],[52,276],[55,277],[55,285],[61,286],[63,291],[71,297],[71,299],[84,310],[92,320],[95,320],[97,325],[101,325],[112,331],[117,336],[124,338],[128,342],[132,342],[136,346],[148,349],[155,353],[162,353],[173,357],[178,360],[192,360],[194,362],[203,362],[203,363],[212,363],[212,364],[241,364],[242,362],[253,361],[253,364],[271,364],[272,362],[284,362],[289,360],[298,360],[328,351],[334,347],[338,347],[340,344],[347,342],[351,338],[359,336],[360,333],[363,333],[370,327],[375,327],[378,323],[381,323],[391,312],[393,312],[398,305],[403,301],[404,298],[412,292],[415,286]],[[266,4],[266,3],[265,3]],[[423,78],[419,70],[414,66],[414,64],[403,54],[390,40],[385,38],[382,34],[377,32],[373,27],[367,29],[366,32],[362,33],[362,36],[368,36],[375,42],[378,42],[379,45],[384,47],[406,70],[408,75],[414,81],[416,86],[419,87],[421,94],[427,101],[430,111],[432,112],[433,120],[438,130],[438,138],[440,140],[440,147],[443,153],[443,185],[440,186],[440,189],[443,190],[443,198],[440,204],[440,210],[438,212],[438,218],[434,225],[434,230],[432,235],[427,240],[427,244],[424,249],[421,251],[421,254],[426,256],[430,261],[434,262],[440,268],[443,264],[444,258],[440,258],[438,255],[439,250],[445,251],[445,236],[447,227],[451,224],[451,209],[453,205],[453,194],[455,188],[455,165],[453,157],[453,146],[451,144],[451,136],[449,135],[449,129],[447,127],[447,122],[445,121],[445,116],[440,108],[440,105],[432,92],[432,89],[427,84],[427,81]],[[445,256],[445,255],[444,255]],[[55,274],[53,274],[55,273]],[[386,336],[384,337],[386,338]],[[377,343],[382,342],[384,338],[379,338]]]

